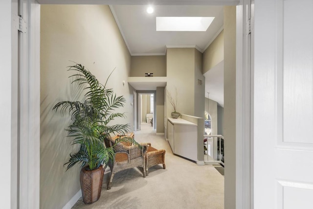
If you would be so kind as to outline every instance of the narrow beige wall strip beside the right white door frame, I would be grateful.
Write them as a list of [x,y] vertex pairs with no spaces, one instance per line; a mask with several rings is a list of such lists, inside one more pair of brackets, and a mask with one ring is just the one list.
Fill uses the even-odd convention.
[[236,6],[224,7],[225,209],[236,208]]

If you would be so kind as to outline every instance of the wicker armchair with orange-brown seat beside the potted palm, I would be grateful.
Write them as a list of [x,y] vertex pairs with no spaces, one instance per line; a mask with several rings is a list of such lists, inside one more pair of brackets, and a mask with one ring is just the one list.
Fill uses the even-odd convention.
[[145,154],[148,149],[148,144],[141,143],[141,148],[134,144],[129,144],[127,142],[118,142],[115,144],[115,139],[107,139],[107,146],[113,146],[115,150],[115,156],[112,161],[108,163],[111,169],[111,177],[108,183],[108,189],[111,189],[112,180],[114,174],[118,171],[126,170],[134,167],[143,168],[143,177],[146,177],[145,169]]

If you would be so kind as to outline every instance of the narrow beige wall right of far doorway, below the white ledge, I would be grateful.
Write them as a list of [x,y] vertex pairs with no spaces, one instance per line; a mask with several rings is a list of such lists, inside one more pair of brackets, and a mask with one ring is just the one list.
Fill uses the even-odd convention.
[[164,87],[156,87],[156,133],[164,133]]

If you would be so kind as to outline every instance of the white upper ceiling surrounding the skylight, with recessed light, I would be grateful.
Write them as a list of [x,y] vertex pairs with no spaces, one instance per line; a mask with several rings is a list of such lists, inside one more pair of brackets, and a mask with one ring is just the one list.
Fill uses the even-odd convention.
[[[115,21],[130,53],[165,55],[166,46],[196,47],[203,52],[223,29],[223,6],[155,5],[154,13],[147,5],[111,5]],[[156,31],[156,17],[215,17],[207,31]]]

